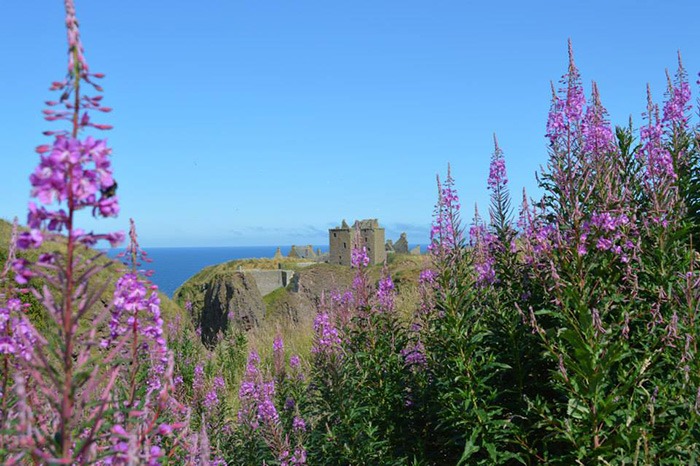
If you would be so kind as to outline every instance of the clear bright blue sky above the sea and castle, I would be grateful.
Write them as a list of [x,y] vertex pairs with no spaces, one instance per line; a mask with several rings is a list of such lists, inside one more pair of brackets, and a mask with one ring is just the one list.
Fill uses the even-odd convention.
[[[5,0],[0,217],[26,218],[43,101],[64,76],[60,0]],[[697,0],[77,0],[122,213],[145,246],[324,244],[345,218],[428,242],[435,175],[487,209],[492,134],[515,199],[547,158],[566,42],[614,123],[641,123],[681,50],[695,101]],[[517,204],[517,202],[516,202]]]

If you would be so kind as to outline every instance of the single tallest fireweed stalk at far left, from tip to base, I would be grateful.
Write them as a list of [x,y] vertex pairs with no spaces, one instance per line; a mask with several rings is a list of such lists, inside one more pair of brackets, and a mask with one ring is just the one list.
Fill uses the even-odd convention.
[[[34,293],[48,310],[56,326],[54,335],[60,341],[37,348],[37,357],[28,367],[29,375],[55,412],[56,424],[31,429],[31,440],[27,441],[33,444],[32,455],[36,458],[70,463],[85,458],[92,448],[117,374],[114,352],[99,368],[93,366],[97,326],[86,329],[82,324],[99,307],[101,294],[90,290],[87,283],[108,264],[97,256],[85,258],[78,249],[100,239],[115,245],[123,234],[86,233],[76,225],[80,210],[91,210],[95,217],[113,217],[119,212],[119,204],[109,160],[111,150],[106,141],[92,136],[79,138],[87,128],[110,129],[109,125],[94,123],[91,113],[111,109],[102,106],[102,96],[85,93],[87,86],[101,92],[94,80],[103,75],[89,71],[72,0],[65,1],[65,10],[68,73],[65,80],[52,84],[51,90],[61,94],[58,101],[47,102],[49,108],[44,114],[48,121],[67,121],[69,128],[47,131],[45,134],[54,138],[53,144],[37,147],[41,161],[30,177],[31,194],[43,206],[30,203],[31,230],[22,233],[17,241],[19,248],[28,249],[39,247],[44,239],[52,239],[65,244],[65,249],[44,254],[34,264],[19,259],[14,266],[19,283],[38,276],[51,285]],[[56,236],[61,232],[65,232],[65,240]],[[105,312],[98,311],[96,323],[99,325],[104,317]],[[93,407],[84,411],[87,406]]]

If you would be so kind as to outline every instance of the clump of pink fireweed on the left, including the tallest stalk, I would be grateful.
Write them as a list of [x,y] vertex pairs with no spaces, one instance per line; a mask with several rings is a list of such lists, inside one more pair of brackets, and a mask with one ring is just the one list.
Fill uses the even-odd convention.
[[[163,333],[156,288],[139,275],[132,222],[131,269],[116,282],[111,265],[89,249],[100,240],[119,244],[122,233],[98,234],[77,226],[81,211],[96,218],[119,212],[116,182],[104,139],[84,136],[95,112],[109,112],[91,73],[75,8],[66,0],[68,72],[51,90],[48,121],[68,129],[46,131],[51,144],[36,151],[30,176],[28,231],[15,235],[0,281],[2,321],[3,464],[177,464],[208,461],[187,430],[187,410],[173,398],[173,364]],[[47,243],[36,260],[19,256]],[[36,254],[34,254],[36,256]],[[7,264],[11,265],[11,270]],[[9,285],[12,275],[23,288]],[[22,315],[18,293],[32,293],[44,309],[41,333]]]

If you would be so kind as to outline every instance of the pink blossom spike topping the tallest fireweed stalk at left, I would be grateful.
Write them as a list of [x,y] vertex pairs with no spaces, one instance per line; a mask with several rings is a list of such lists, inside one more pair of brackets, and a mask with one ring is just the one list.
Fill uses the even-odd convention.
[[[58,101],[46,102],[49,108],[43,113],[47,121],[69,122],[72,130],[46,131],[44,134],[54,136],[53,143],[36,148],[40,162],[29,177],[31,196],[46,207],[37,206],[33,202],[29,204],[27,223],[31,231],[20,236],[20,248],[38,247],[43,240],[40,233],[43,227],[51,232],[65,229],[69,240],[86,245],[94,245],[103,239],[115,246],[124,239],[121,233],[86,233],[73,225],[73,213],[86,208],[91,209],[95,217],[116,217],[119,202],[115,194],[116,182],[112,176],[111,149],[107,147],[107,141],[92,136],[78,138],[78,132],[88,127],[111,129],[109,125],[93,123],[90,119],[91,111],[110,112],[111,108],[102,105],[101,95],[81,95],[81,83],[101,92],[102,87],[93,80],[104,75],[89,72],[72,0],[66,1],[66,27],[68,75],[64,81],[51,85],[51,90],[61,92],[61,97]],[[60,106],[64,110],[55,110],[55,107]],[[55,208],[56,202],[59,206],[65,205],[65,208]]]

